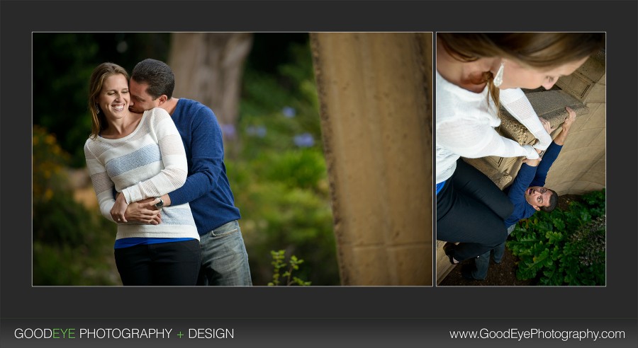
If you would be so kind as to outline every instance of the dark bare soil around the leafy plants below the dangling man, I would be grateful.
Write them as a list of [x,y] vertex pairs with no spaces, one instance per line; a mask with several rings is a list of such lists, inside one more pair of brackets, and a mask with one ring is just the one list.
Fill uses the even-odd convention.
[[[579,199],[578,195],[564,195],[559,197],[558,206],[560,209],[566,209],[569,207],[569,202]],[[537,214],[543,214],[539,212]],[[493,260],[490,260],[490,268],[485,280],[466,279],[461,275],[461,267],[469,267],[474,264],[473,260],[466,260],[461,262],[452,269],[452,272],[447,274],[447,277],[442,280],[438,286],[533,286],[535,285],[534,279],[519,280],[516,279],[516,267],[518,259],[510,250],[505,248],[505,255],[500,264],[496,265]]]

